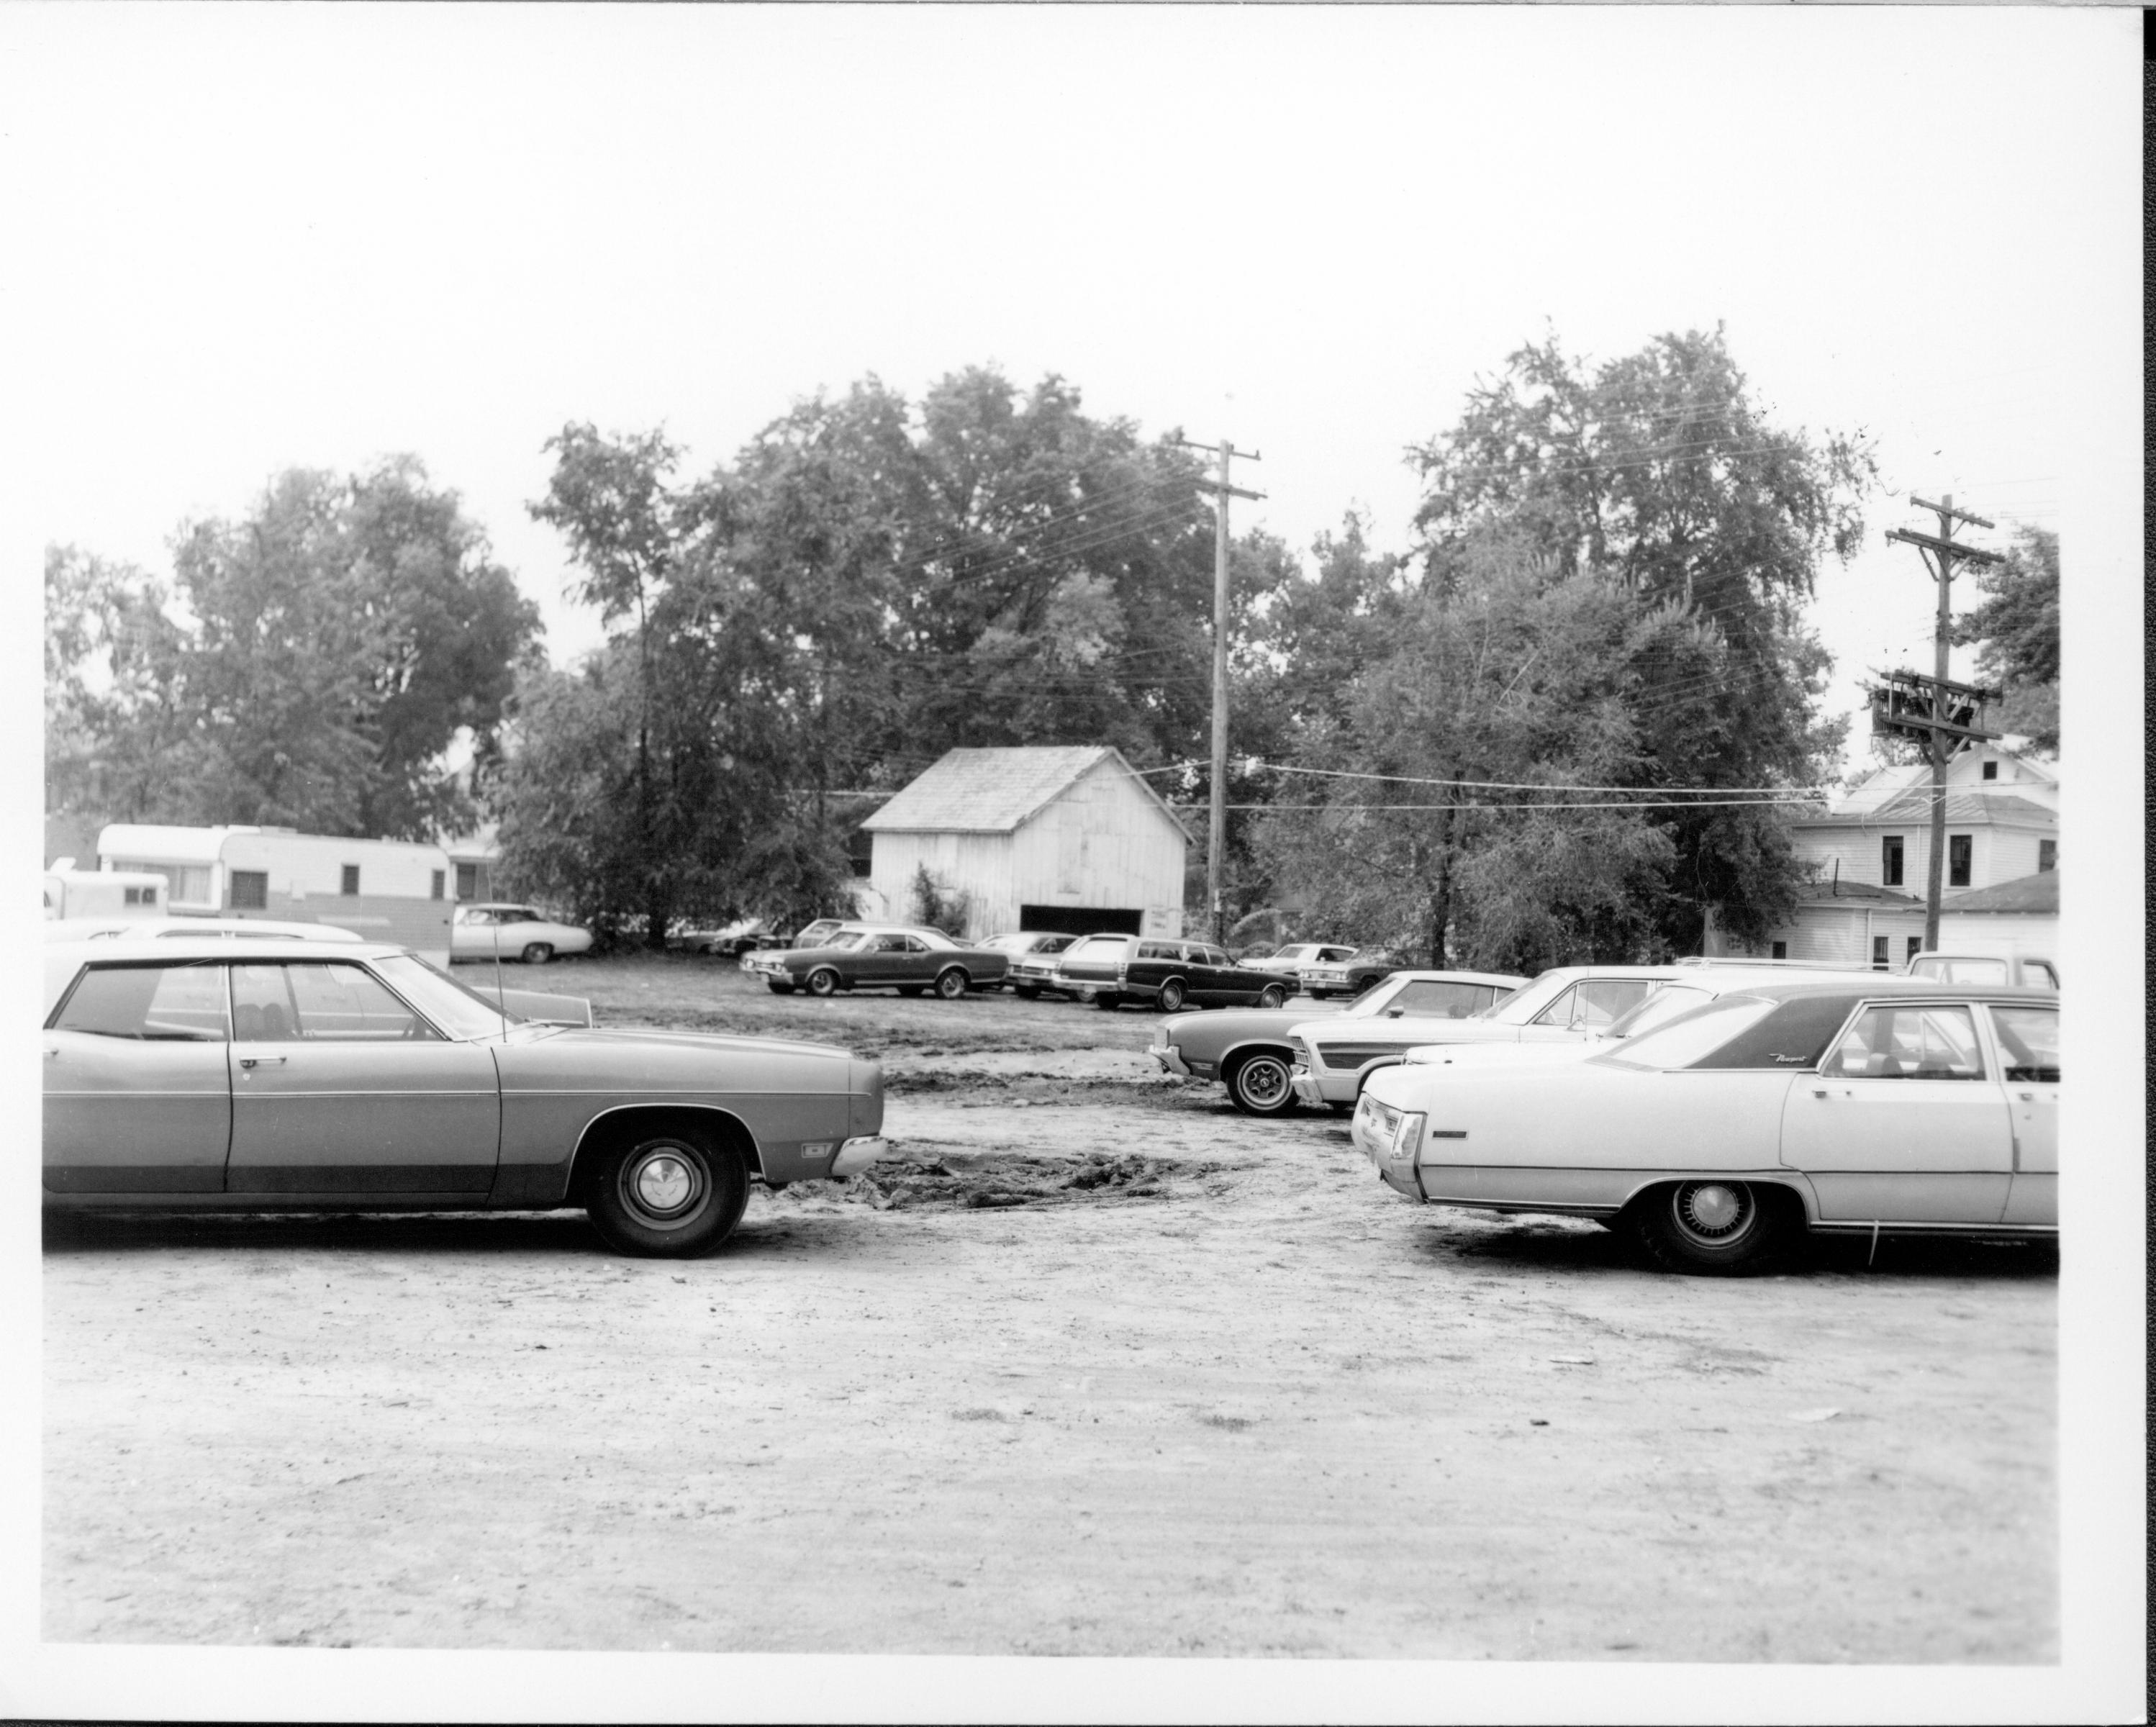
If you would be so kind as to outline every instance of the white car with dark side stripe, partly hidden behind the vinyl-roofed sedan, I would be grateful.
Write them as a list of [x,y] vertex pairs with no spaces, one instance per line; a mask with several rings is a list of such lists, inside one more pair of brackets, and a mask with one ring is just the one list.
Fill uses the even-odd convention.
[[1492,1007],[1477,1009],[1455,992],[1432,1007],[1388,1003],[1376,1016],[1309,1020],[1287,1033],[1289,1082],[1304,1104],[1348,1108],[1363,1080],[1416,1044],[1576,1041],[1673,977],[1675,966],[1557,966]]

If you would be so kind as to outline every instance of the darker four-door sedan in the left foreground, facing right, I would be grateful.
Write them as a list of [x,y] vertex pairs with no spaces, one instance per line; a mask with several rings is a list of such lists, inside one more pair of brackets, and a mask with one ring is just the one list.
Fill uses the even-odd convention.
[[50,1207],[584,1207],[619,1253],[692,1255],[752,1179],[884,1147],[873,1061],[505,1024],[384,942],[54,942],[43,1074]]

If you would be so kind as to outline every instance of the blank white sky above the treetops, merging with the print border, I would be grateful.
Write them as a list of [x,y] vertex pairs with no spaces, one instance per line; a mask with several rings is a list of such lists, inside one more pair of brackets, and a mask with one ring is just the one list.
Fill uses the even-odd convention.
[[1774,423],[1876,440],[1818,606],[1856,709],[1867,668],[1930,668],[1930,580],[1882,539],[1932,526],[1908,492],[1979,543],[2061,522],[2122,119],[2091,97],[2132,88],[2139,17],[15,9],[0,39],[45,541],[164,569],[278,468],[410,451],[565,660],[599,625],[526,505],[571,418],[707,468],[871,371],[1056,371],[1259,451],[1238,528],[1363,507],[1404,545],[1404,448],[1516,345],[1725,323]]

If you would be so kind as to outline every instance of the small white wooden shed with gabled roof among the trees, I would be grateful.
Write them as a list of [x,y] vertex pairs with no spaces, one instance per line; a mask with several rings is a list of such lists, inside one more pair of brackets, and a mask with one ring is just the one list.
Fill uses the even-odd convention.
[[1184,934],[1190,837],[1115,748],[951,750],[862,828],[869,886],[890,918],[918,916],[927,869],[942,897],[964,897],[975,940]]

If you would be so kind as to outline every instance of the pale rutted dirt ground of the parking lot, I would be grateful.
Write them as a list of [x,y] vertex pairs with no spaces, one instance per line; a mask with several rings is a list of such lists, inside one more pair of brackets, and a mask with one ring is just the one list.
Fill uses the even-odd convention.
[[2057,1660],[2044,1248],[1660,1276],[1238,1117],[1149,1013],[517,981],[877,1054],[895,1160],[690,1263],[50,1222],[47,1639]]

